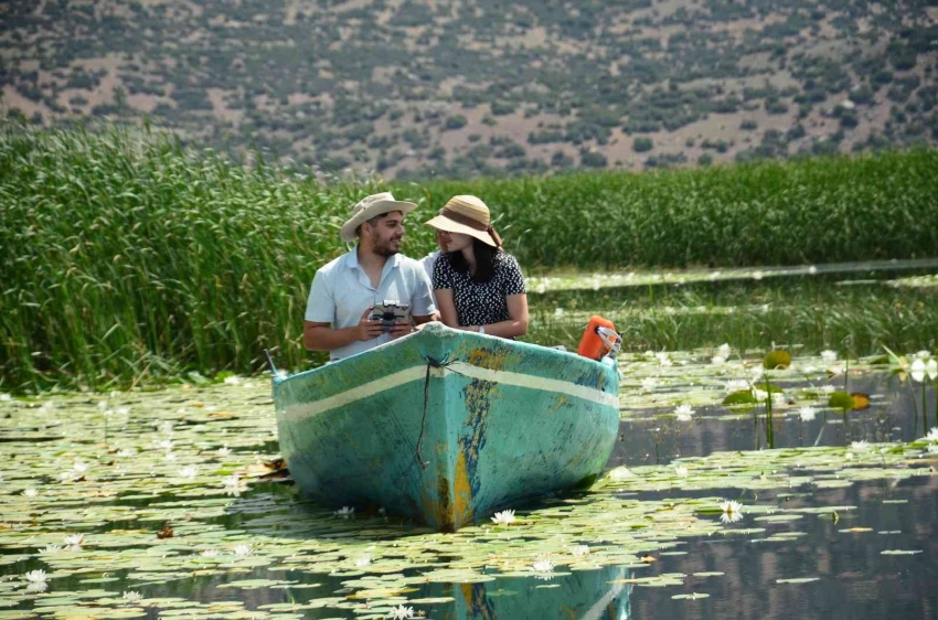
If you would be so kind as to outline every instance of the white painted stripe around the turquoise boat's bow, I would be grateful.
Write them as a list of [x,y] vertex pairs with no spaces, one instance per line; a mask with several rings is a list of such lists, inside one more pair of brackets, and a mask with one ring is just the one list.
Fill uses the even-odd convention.
[[[619,407],[619,396],[617,394],[603,392],[595,387],[577,385],[568,381],[525,375],[522,373],[512,373],[509,371],[481,368],[479,366],[467,364],[466,362],[454,362],[445,368],[430,366],[430,376],[433,377],[441,378],[452,374],[467,376],[470,378],[477,378],[481,381],[488,381],[501,385],[525,387],[529,389],[537,389],[541,392],[554,392],[557,394],[565,394],[567,396],[580,398],[583,400],[597,403],[599,405],[606,405],[616,408]],[[414,366],[355,386],[340,394],[334,394],[332,396],[329,396],[328,398],[322,398],[321,400],[288,406],[285,414],[288,419],[299,419],[316,416],[323,411],[334,409],[337,407],[351,405],[352,403],[355,403],[358,400],[370,398],[371,396],[375,396],[377,394],[381,394],[382,392],[386,392],[394,387],[399,387],[407,383],[423,381],[424,378],[426,378],[426,366]]]

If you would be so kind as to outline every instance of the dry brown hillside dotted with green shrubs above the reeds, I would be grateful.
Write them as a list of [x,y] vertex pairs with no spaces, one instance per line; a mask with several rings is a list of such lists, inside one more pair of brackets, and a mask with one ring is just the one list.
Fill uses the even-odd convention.
[[326,171],[641,170],[938,143],[925,1],[8,0],[0,42],[7,114],[146,114],[192,145]]

